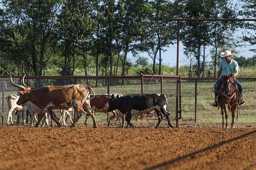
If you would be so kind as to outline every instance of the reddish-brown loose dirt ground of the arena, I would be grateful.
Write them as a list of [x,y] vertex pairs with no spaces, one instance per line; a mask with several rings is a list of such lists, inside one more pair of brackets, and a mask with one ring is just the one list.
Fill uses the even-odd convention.
[[0,126],[0,169],[256,169],[256,124],[135,125]]

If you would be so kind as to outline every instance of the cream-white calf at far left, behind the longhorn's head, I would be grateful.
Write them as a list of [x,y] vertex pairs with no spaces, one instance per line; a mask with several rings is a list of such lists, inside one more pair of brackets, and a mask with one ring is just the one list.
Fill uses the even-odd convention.
[[7,102],[8,108],[9,108],[8,117],[7,117],[7,125],[9,125],[9,119],[10,118],[11,118],[11,123],[13,125],[12,111],[17,111],[18,116],[19,116],[20,113],[23,113],[22,114],[22,124],[25,125],[25,119],[23,118],[23,116],[24,116],[24,113],[26,113],[27,108],[16,104],[19,97],[20,96],[17,96],[15,94],[11,94],[11,95],[6,97],[6,102]]

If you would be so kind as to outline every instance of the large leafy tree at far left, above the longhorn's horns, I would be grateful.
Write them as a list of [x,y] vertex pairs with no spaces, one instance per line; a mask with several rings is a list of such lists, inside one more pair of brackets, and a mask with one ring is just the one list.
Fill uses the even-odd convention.
[[8,55],[12,54],[11,60],[22,74],[44,74],[56,44],[53,26],[61,2],[3,0],[9,21],[3,38],[6,42],[4,48]]

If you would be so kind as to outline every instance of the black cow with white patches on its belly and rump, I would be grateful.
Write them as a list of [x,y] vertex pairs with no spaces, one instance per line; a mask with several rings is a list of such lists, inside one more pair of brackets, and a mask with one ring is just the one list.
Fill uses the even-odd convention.
[[166,111],[167,98],[163,94],[133,94],[122,97],[112,95],[108,105],[108,111],[118,109],[122,113],[127,113],[125,119],[127,122],[126,128],[129,128],[131,116],[135,112],[147,112],[148,110],[155,110],[157,113],[158,122],[156,128],[160,125],[163,115],[166,116],[168,125],[172,127],[170,114]]

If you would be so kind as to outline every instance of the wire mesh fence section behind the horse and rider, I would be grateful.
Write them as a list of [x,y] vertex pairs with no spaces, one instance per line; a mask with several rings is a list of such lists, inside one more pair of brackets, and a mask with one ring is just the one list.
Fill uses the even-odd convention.
[[[243,86],[245,104],[240,106],[240,115],[247,116],[244,122],[251,122],[250,117],[256,116],[256,78],[238,78]],[[214,116],[221,118],[221,111],[213,107],[214,93],[212,88],[216,79],[182,78],[181,105],[182,117],[194,121],[211,122]],[[239,116],[240,116],[239,115]],[[221,120],[221,119],[219,119]]]

